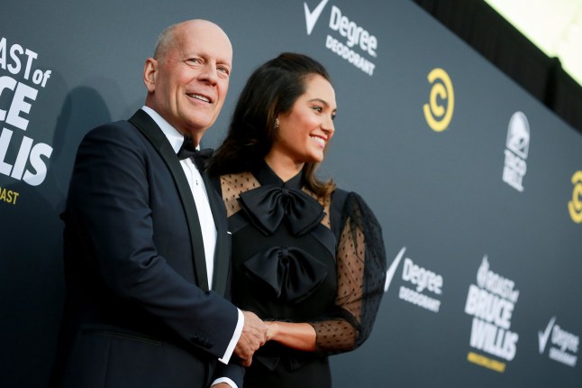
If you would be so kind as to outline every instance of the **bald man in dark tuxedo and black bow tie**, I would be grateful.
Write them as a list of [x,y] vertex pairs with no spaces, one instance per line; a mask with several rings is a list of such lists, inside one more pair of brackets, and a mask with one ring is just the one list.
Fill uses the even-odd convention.
[[145,105],[80,144],[54,386],[241,387],[267,326],[228,301],[225,211],[194,150],[231,69],[216,24],[170,26],[145,62]]

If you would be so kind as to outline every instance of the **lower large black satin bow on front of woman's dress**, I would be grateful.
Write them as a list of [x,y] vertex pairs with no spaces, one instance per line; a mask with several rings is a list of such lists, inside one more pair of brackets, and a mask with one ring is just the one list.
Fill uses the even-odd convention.
[[303,249],[276,246],[252,255],[244,266],[252,278],[266,282],[278,299],[299,303],[327,276],[327,268]]

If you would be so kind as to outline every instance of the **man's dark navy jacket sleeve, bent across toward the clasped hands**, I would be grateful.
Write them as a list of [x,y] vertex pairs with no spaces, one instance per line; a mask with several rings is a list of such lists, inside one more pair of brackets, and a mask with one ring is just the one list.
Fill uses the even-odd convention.
[[189,344],[221,357],[238,312],[196,286],[190,239],[181,230],[187,228],[184,210],[164,168],[132,125],[97,128],[77,152],[63,219],[77,230],[74,238],[85,240],[88,276],[110,300],[146,311]]

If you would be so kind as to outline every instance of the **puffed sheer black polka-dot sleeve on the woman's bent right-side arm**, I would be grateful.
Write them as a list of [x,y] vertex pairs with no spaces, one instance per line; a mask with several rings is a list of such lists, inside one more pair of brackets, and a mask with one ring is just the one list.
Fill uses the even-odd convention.
[[368,338],[386,281],[386,253],[376,217],[355,193],[348,194],[342,213],[336,309],[326,319],[311,322],[317,350],[328,354],[353,350]]

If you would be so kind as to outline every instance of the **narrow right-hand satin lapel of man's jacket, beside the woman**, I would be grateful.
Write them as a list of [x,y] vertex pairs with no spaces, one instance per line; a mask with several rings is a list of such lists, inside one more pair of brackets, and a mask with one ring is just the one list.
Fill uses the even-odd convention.
[[208,202],[210,203],[214,217],[214,225],[216,226],[213,290],[224,296],[231,260],[230,235],[228,235],[228,226],[226,224],[226,209],[224,208],[223,199],[219,197],[214,189],[213,182],[206,172],[202,173],[202,178],[205,180]]

